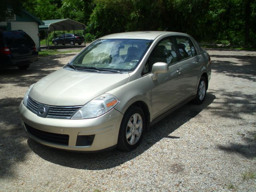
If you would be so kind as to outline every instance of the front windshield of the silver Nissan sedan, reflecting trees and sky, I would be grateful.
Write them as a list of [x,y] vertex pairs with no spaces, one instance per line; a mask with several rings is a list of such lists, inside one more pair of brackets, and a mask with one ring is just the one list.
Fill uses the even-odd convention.
[[90,44],[69,64],[75,69],[135,70],[152,40],[101,39]]

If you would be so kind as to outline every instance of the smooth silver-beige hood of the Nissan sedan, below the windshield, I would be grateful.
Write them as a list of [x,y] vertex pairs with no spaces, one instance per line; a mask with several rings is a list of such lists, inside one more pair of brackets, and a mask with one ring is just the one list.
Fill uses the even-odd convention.
[[39,80],[29,96],[53,106],[84,105],[128,82],[129,74],[79,72],[60,69]]

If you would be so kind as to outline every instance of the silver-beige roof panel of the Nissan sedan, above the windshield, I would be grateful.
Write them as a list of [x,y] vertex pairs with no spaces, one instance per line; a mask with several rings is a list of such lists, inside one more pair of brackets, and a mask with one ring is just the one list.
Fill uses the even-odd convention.
[[125,33],[115,33],[104,36],[100,39],[147,39],[154,40],[160,35],[170,34],[170,35],[182,35],[188,36],[185,33],[169,32],[169,31],[136,31],[136,32],[125,32]]

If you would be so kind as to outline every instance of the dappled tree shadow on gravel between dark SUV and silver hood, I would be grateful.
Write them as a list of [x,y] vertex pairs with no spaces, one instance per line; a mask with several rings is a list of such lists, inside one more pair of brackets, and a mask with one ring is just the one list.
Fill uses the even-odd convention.
[[[65,54],[65,57],[75,55]],[[67,60],[65,64],[60,63],[58,58],[62,57],[62,54],[39,57],[39,60],[30,64],[30,68],[27,70],[20,70],[17,67],[0,69],[0,84],[11,83],[14,86],[28,87],[69,62]]]

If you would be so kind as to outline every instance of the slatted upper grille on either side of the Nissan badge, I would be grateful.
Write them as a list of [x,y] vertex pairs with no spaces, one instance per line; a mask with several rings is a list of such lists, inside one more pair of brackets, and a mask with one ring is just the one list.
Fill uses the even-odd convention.
[[[32,111],[34,114],[38,114],[38,103],[37,101],[33,100],[31,97],[28,97],[28,109]],[[42,104],[44,105],[44,104]],[[46,114],[46,118],[60,118],[60,119],[70,119],[72,115],[82,106],[48,106],[49,110]]]

